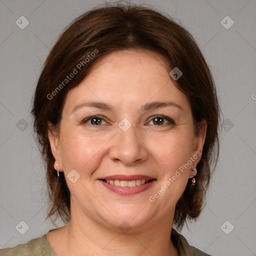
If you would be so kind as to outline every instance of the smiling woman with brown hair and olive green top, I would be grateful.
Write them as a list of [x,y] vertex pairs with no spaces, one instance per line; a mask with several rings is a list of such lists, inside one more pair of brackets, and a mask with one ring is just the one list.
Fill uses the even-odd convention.
[[51,49],[32,114],[47,217],[66,224],[0,255],[208,255],[195,220],[218,157],[219,106],[192,36],[149,8],[77,17]]

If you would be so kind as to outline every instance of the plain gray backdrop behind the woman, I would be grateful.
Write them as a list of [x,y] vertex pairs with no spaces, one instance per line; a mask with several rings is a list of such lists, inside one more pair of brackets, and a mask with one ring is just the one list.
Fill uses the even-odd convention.
[[[53,228],[44,221],[44,169],[32,135],[31,97],[60,31],[102,2],[0,0],[0,247]],[[193,34],[212,70],[223,112],[220,158],[206,206],[190,231],[181,233],[209,254],[256,255],[256,1],[143,2],[178,18]],[[24,29],[15,23],[21,15],[29,21]],[[220,23],[226,15],[234,21],[229,29]],[[29,226],[24,234],[19,233],[24,224],[15,228],[21,220]],[[226,220],[230,223],[222,225]]]

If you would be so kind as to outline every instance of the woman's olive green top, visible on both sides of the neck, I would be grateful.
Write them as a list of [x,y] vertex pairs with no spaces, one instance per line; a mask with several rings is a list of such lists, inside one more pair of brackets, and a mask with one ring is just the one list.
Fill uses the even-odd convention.
[[[177,247],[179,256],[210,256],[201,250],[190,246],[184,236],[179,234],[175,229],[171,230],[171,240]],[[57,256],[52,249],[45,234],[29,240],[24,244],[18,244],[13,248],[0,249],[0,256]]]

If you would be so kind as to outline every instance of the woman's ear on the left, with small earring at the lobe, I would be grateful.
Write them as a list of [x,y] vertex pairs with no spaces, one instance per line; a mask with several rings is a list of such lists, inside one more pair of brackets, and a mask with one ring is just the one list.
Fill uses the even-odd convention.
[[[48,139],[50,142],[51,152],[56,163],[58,164],[58,171],[62,171],[63,165],[62,165],[61,153],[59,149],[59,136],[55,126],[51,122],[48,121],[47,125],[48,125]],[[54,164],[54,168],[57,170],[55,164]]]

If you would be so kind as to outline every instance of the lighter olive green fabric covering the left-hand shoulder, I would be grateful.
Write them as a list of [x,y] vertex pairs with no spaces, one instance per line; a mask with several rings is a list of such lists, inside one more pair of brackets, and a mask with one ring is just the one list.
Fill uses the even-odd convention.
[[26,243],[18,244],[12,248],[0,249],[0,256],[57,256],[55,251],[51,248],[45,234],[29,240]]

